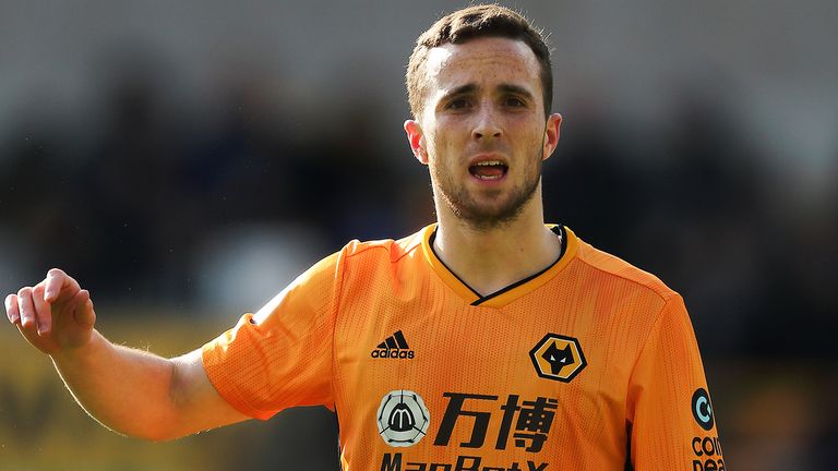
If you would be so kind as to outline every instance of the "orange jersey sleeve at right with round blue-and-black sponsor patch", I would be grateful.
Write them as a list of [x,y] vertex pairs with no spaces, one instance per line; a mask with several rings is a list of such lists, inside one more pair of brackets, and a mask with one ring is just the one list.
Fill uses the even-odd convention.
[[702,357],[679,295],[667,300],[637,358],[627,409],[632,469],[726,469]]

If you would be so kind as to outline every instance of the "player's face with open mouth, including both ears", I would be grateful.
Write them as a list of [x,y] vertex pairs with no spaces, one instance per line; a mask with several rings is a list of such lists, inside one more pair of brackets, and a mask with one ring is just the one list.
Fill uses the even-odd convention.
[[477,228],[514,220],[559,138],[561,116],[544,119],[538,60],[523,41],[479,38],[431,49],[426,73],[422,116],[405,130],[430,168],[438,209]]

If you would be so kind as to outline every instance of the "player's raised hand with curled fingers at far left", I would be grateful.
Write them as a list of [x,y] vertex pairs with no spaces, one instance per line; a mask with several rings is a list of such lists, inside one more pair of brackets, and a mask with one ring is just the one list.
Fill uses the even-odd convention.
[[5,313],[26,340],[47,354],[87,345],[96,321],[91,293],[58,268],[34,287],[5,297]]

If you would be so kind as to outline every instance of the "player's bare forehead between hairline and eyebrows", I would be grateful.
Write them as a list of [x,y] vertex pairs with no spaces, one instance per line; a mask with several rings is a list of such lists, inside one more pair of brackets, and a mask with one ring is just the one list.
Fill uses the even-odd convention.
[[432,48],[426,71],[431,96],[466,83],[514,83],[534,87],[534,94],[540,90],[538,59],[529,46],[516,39],[484,37]]

